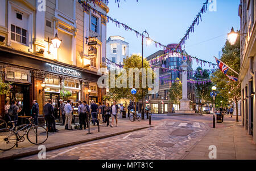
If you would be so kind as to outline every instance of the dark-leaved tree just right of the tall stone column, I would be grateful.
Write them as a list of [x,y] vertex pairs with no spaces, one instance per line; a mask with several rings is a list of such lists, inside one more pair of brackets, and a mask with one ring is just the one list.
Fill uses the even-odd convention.
[[[201,67],[197,67],[194,75],[195,80],[209,80],[210,74],[207,70],[203,70]],[[212,91],[212,83],[207,82],[205,84],[196,84],[196,97],[200,101],[212,101],[210,92]],[[202,103],[200,102],[200,110],[202,109]]]

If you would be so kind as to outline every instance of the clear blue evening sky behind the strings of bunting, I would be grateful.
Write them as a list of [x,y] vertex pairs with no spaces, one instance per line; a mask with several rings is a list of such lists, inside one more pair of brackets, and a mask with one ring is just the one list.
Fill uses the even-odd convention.
[[[217,11],[208,10],[202,15],[203,22],[195,26],[195,32],[190,33],[185,44],[189,55],[210,62],[214,62],[213,55],[218,57],[230,29],[240,29],[240,0],[216,1]],[[167,45],[181,40],[204,2],[205,0],[121,0],[118,8],[117,3],[110,0],[108,15],[141,33],[147,29],[151,39]],[[112,22],[107,27],[107,38],[113,35],[125,37],[125,41],[130,44],[130,54],[141,53],[141,37],[138,39],[134,32],[118,28]],[[144,57],[159,49],[155,48],[155,44],[144,47]],[[196,68],[197,65],[194,64],[193,67]]]

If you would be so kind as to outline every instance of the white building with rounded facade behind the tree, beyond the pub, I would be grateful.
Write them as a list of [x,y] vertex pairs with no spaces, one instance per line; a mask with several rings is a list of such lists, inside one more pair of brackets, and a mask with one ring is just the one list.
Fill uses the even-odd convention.
[[121,36],[110,36],[106,41],[106,57],[110,61],[123,64],[123,59],[129,56],[129,43]]

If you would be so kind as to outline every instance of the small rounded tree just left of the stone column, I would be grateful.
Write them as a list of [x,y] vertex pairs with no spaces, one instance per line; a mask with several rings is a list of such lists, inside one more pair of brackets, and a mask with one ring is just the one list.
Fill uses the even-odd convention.
[[182,83],[179,78],[176,78],[176,82],[172,83],[169,92],[171,103],[180,105],[180,99],[182,99]]

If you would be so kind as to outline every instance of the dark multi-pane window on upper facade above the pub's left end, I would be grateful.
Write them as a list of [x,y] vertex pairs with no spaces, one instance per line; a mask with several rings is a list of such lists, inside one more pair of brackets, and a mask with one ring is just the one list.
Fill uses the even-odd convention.
[[27,45],[27,30],[11,24],[11,40]]

